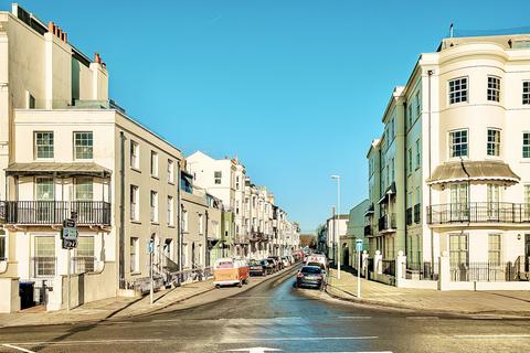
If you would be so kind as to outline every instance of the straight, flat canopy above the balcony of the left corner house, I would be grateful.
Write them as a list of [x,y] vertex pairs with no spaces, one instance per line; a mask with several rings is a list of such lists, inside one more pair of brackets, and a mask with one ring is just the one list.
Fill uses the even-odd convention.
[[57,175],[57,176],[108,176],[110,170],[93,162],[54,163],[12,163],[6,168],[6,175]]

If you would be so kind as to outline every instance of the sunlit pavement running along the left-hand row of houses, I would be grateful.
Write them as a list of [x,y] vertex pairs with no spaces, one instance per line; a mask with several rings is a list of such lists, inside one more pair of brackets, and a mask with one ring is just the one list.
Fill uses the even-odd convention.
[[[221,298],[229,297],[256,286],[258,282],[282,275],[283,271],[267,277],[252,277],[248,285],[243,288],[223,288]],[[75,322],[100,322],[106,320],[123,320],[137,315],[161,311],[170,306],[180,304],[186,307],[187,300],[214,291],[213,279],[190,282],[181,287],[160,290],[153,295],[153,303],[150,304],[149,296],[137,298],[108,298],[93,301],[77,308],[47,312],[44,306],[29,308],[14,313],[0,313],[0,328],[21,325],[62,324]],[[214,296],[220,299],[220,296]]]

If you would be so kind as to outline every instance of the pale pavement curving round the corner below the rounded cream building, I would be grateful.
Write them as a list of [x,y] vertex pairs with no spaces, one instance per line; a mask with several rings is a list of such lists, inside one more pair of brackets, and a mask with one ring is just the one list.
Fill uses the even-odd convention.
[[396,288],[361,278],[361,299],[357,298],[357,276],[331,269],[327,293],[333,298],[427,313],[504,315],[530,318],[530,291],[439,291]]

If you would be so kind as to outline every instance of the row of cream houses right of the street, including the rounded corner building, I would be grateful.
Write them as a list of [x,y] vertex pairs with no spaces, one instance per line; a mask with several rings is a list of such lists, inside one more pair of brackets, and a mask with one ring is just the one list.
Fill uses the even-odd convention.
[[368,206],[353,212],[369,256],[402,254],[425,278],[448,256],[456,279],[480,268],[528,279],[530,34],[442,40],[393,89],[381,121]]

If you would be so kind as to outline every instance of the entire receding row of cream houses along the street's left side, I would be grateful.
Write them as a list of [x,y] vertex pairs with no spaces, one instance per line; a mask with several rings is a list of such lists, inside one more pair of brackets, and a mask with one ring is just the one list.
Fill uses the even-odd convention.
[[[76,306],[145,289],[151,265],[165,287],[221,256],[298,248],[298,224],[242,163],[184,158],[129,117],[109,99],[102,56],[57,24],[13,4],[0,38],[0,311],[20,309],[21,285],[31,303],[65,308],[68,268]],[[60,232],[72,216],[70,258]]]

